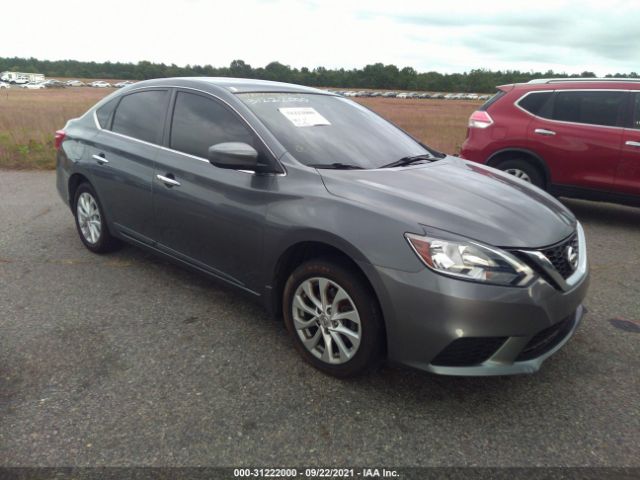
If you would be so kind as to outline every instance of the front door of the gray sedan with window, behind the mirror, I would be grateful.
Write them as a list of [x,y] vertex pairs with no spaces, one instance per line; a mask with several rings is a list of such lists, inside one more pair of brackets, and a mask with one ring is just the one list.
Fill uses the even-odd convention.
[[154,218],[159,248],[251,289],[262,259],[266,192],[276,178],[227,170],[207,160],[210,146],[257,137],[234,112],[204,94],[178,91],[169,149],[156,158]]

